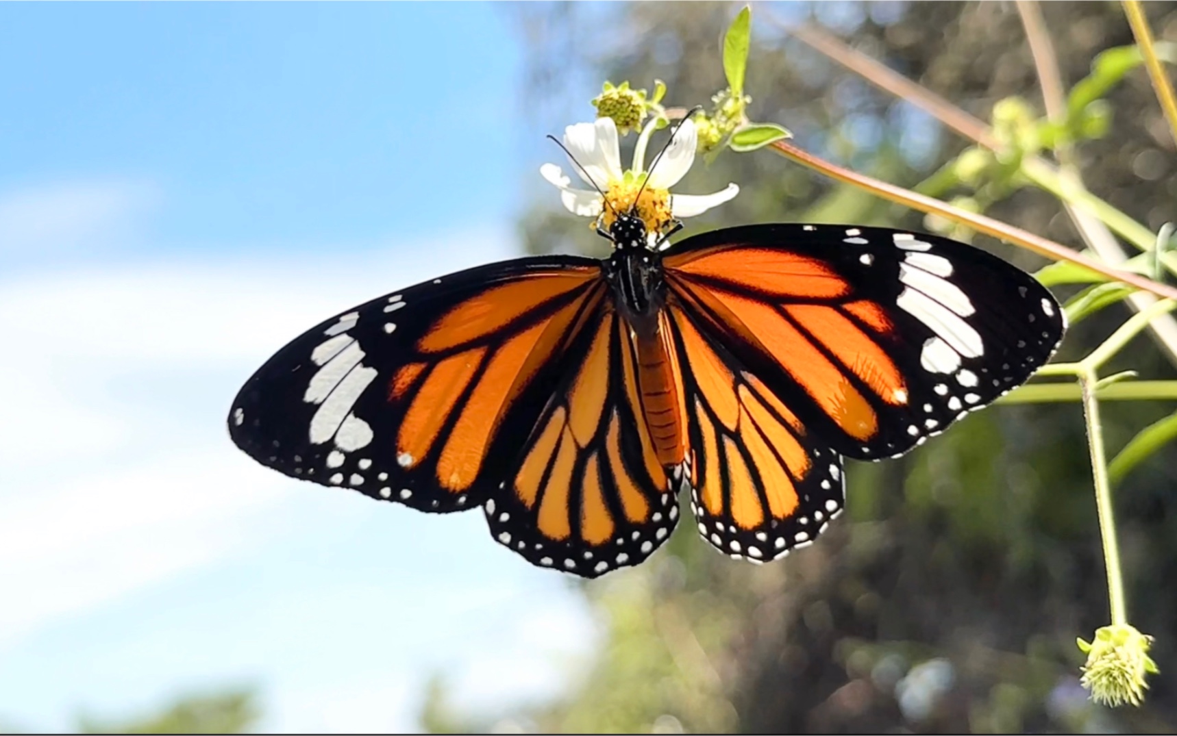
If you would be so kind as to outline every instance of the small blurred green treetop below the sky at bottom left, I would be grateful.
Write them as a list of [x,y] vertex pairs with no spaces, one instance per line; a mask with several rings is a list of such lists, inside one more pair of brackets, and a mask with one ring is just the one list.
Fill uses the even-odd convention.
[[155,712],[129,718],[78,718],[80,734],[246,734],[261,718],[257,692],[233,688],[182,695]]

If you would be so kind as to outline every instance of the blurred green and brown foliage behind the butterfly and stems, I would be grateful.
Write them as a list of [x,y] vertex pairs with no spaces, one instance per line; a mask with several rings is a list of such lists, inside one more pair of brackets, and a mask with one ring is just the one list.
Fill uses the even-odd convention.
[[[591,118],[587,96],[568,96],[568,80],[652,87],[659,78],[669,105],[707,103],[724,86],[717,41],[738,7],[516,6],[532,54],[528,123],[547,133]],[[1100,51],[1132,41],[1118,4],[1042,11],[1064,85],[1083,78]],[[1177,40],[1177,7],[1153,2],[1148,11],[1156,33]],[[969,143],[773,19],[823,25],[978,118],[1012,95],[1042,109],[1012,4],[758,5],[750,115],[877,178],[915,187]],[[1173,145],[1144,73],[1130,74],[1108,100],[1111,133],[1076,152],[1089,186],[1151,228],[1177,219]],[[789,220],[927,228],[919,213],[767,152],[725,153],[696,166],[679,190],[712,192],[729,181],[740,195],[690,230]],[[531,250],[604,252],[583,220],[558,208],[554,192],[536,201],[543,203],[520,219]],[[1058,201],[1040,190],[1011,188],[989,214],[1082,247]],[[976,243],[1024,268],[1042,263],[984,237]],[[1109,309],[1077,326],[1063,357],[1085,354],[1124,316]],[[1143,341],[1130,367],[1171,372]],[[1170,410],[1106,404],[1110,448]],[[1164,675],[1177,650],[1177,590],[1164,584],[1177,570],[1177,455],[1166,448],[1117,489],[1132,617],[1157,637],[1163,674],[1143,708],[1109,711],[1079,687],[1075,647],[1077,635],[1106,622],[1083,433],[1076,404],[992,408],[902,460],[856,463],[846,516],[783,563],[733,562],[700,542],[693,524],[680,524],[646,564],[583,584],[610,622],[596,665],[559,702],[512,723],[647,732],[1177,729],[1177,682]]]

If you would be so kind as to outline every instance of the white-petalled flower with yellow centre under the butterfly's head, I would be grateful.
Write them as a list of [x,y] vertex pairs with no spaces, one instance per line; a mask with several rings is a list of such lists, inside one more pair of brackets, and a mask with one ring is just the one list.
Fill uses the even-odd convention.
[[[640,192],[637,212],[646,222],[651,234],[660,233],[663,227],[674,219],[701,214],[739,194],[739,187],[733,183],[714,194],[670,193],[670,188],[686,175],[691,163],[694,162],[697,132],[694,121],[690,119],[678,127],[673,141],[657,161],[653,170],[644,175],[646,142],[652,132],[652,125],[643,132],[633,152],[633,168],[623,172],[617,143],[617,125],[612,119],[598,118],[597,122],[578,122],[565,128],[564,145],[572,158],[584,167],[584,172],[576,163],[572,168],[586,183],[596,185],[604,192],[604,199],[597,190],[570,186],[571,179],[554,163],[545,163],[539,168],[539,173],[559,187],[560,201],[568,212],[586,218],[597,218],[604,213],[606,227],[616,213],[625,213],[633,207],[634,198]],[[610,203],[607,208],[604,206],[605,200]]]

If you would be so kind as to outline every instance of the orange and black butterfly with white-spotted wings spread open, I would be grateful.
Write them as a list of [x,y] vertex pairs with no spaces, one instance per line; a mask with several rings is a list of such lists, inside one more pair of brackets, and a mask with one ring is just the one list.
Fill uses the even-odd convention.
[[479,508],[503,546],[584,577],[665,543],[685,486],[707,542],[764,562],[842,511],[843,456],[944,431],[1065,329],[1033,277],[935,235],[752,225],[657,249],[633,213],[599,230],[607,259],[481,266],[311,328],[233,400],[233,442],[295,479]]

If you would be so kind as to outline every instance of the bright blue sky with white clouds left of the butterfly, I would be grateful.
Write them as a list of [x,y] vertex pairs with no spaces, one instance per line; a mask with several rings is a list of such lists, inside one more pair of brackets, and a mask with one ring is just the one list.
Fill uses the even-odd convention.
[[520,65],[490,5],[0,5],[0,723],[254,683],[266,729],[397,730],[433,671],[496,705],[583,661],[579,595],[479,515],[222,423],[324,315],[518,253]]

